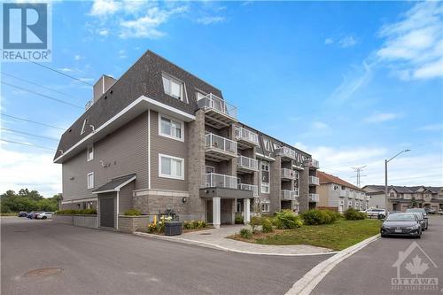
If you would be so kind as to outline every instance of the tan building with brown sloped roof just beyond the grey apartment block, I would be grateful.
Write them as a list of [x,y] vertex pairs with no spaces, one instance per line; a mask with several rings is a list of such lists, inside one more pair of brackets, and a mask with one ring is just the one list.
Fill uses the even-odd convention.
[[364,190],[323,171],[317,171],[317,175],[320,179],[319,207],[337,210],[338,213],[343,213],[349,208],[366,210],[369,207],[369,198]]

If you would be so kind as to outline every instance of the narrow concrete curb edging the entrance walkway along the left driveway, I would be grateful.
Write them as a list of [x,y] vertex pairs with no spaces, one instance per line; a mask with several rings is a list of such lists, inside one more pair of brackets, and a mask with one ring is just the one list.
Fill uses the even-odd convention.
[[242,251],[242,250],[227,248],[227,247],[223,247],[221,245],[216,245],[216,244],[213,244],[213,243],[195,241],[195,240],[190,240],[190,239],[186,239],[186,238],[182,238],[182,237],[166,237],[166,236],[147,234],[147,233],[140,232],[140,231],[136,231],[133,234],[136,235],[136,236],[139,236],[139,237],[152,237],[152,238],[156,238],[156,239],[164,240],[164,241],[170,241],[170,242],[175,242],[175,243],[182,243],[182,244],[186,244],[186,245],[198,245],[200,247],[211,248],[211,249],[221,250],[221,251],[225,251],[225,252],[236,252],[236,253],[251,254],[251,255],[316,256],[316,255],[330,255],[330,254],[339,253],[337,251],[335,251],[335,252],[318,252],[318,253],[300,253],[300,254],[252,252],[252,251]]

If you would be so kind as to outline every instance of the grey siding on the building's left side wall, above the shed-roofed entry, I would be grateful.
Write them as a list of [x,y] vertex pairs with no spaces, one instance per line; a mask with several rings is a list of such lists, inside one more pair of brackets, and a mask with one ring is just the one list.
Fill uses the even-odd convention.
[[[92,193],[114,177],[136,173],[135,188],[148,187],[147,113],[130,121],[113,134],[94,143],[94,159],[87,161],[86,150],[62,166],[63,200],[94,198]],[[108,164],[102,167],[100,160]],[[94,189],[87,189],[87,175],[94,172]],[[74,179],[71,179],[73,178]]]

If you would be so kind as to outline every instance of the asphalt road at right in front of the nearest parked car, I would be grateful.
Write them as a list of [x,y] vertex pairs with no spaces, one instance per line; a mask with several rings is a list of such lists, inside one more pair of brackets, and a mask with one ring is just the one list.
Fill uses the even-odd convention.
[[[406,252],[413,242],[416,242],[424,252],[415,247],[414,251],[408,254],[404,263],[400,265],[400,277],[437,278],[439,282],[436,288],[433,286],[418,287],[414,281],[405,281],[405,285],[400,286],[395,283],[392,285],[392,278],[397,277],[397,268],[394,264],[399,260],[399,252]],[[408,263],[410,263],[409,266]],[[339,263],[323,278],[323,281],[315,287],[311,294],[441,295],[443,294],[442,268],[443,216],[431,215],[429,229],[424,232],[421,239],[381,238]]]

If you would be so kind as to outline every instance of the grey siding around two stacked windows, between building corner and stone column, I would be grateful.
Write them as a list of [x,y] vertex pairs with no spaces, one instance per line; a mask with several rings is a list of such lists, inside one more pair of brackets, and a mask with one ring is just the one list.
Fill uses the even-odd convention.
[[[151,189],[188,190],[188,124],[184,123],[184,142],[159,136],[159,113],[151,111]],[[159,154],[184,159],[184,180],[159,177]]]

